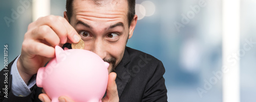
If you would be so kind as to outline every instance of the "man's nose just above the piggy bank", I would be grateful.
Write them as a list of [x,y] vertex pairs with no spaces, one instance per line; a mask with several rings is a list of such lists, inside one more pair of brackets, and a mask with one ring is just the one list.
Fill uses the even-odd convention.
[[100,40],[95,40],[92,52],[97,54],[101,59],[106,57],[105,46]]

